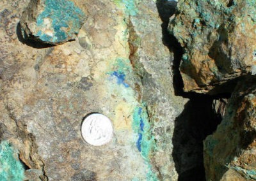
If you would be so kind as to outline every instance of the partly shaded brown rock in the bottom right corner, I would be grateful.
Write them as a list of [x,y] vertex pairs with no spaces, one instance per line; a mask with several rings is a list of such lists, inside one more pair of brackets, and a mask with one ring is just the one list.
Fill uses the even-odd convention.
[[255,77],[237,84],[216,133],[204,141],[207,180],[256,179]]

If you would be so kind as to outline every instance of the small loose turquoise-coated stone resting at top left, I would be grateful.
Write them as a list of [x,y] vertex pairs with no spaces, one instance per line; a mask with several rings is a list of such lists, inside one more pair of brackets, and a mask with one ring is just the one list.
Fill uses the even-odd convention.
[[23,38],[52,45],[74,40],[85,19],[78,4],[68,0],[31,0],[20,18]]

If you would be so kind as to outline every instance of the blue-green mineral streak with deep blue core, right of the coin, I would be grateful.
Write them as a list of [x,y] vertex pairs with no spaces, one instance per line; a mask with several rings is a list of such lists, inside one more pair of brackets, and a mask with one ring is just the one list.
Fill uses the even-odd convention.
[[147,180],[158,180],[150,164],[150,154],[156,148],[156,142],[154,136],[152,136],[151,125],[148,121],[148,115],[144,105],[135,108],[132,129],[138,134],[136,147],[148,166]]

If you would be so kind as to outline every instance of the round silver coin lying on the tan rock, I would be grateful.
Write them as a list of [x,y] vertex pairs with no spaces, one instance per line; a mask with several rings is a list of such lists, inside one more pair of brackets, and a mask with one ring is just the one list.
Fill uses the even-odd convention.
[[81,134],[90,145],[105,145],[113,137],[111,120],[102,113],[92,113],[83,120]]

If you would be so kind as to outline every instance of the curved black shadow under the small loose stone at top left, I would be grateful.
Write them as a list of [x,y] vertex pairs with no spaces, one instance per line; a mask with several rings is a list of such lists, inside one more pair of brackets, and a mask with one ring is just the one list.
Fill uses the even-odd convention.
[[37,48],[37,49],[42,49],[42,48],[49,48],[53,47],[54,45],[47,44],[47,43],[42,43],[40,41],[35,41],[32,40],[31,38],[28,37],[27,34],[24,34],[24,37],[22,36],[22,29],[20,23],[17,24],[16,28],[16,34],[17,38],[21,43],[24,43],[28,45],[29,47]]

